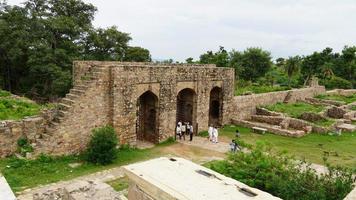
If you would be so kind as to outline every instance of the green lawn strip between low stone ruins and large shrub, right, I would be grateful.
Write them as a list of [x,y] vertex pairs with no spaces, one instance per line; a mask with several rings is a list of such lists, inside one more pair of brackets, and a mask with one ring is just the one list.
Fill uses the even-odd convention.
[[296,159],[324,164],[323,157],[328,154],[328,162],[356,170],[356,132],[341,136],[309,134],[301,138],[285,137],[267,133],[255,134],[249,128],[226,126],[219,131],[220,136],[235,139],[235,131],[241,132],[244,143],[255,145],[257,141],[268,143],[275,151],[287,152]]

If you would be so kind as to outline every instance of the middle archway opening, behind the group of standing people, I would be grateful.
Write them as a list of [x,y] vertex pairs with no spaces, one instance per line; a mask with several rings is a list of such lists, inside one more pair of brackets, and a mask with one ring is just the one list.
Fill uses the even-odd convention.
[[176,123],[189,122],[196,126],[197,118],[197,94],[191,88],[185,88],[177,95]]

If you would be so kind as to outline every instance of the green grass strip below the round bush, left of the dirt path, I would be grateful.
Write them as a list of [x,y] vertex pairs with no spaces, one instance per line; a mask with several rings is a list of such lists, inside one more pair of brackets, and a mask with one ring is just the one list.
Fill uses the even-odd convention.
[[[170,144],[172,142],[166,142],[144,150],[121,149],[118,151],[118,158],[112,164],[106,166],[82,162],[78,156],[42,157],[36,160],[7,158],[0,160],[0,172],[5,176],[12,190],[18,192],[38,185],[69,180],[97,171],[158,157],[162,155],[160,150]],[[70,163],[81,163],[81,165],[71,168]]]

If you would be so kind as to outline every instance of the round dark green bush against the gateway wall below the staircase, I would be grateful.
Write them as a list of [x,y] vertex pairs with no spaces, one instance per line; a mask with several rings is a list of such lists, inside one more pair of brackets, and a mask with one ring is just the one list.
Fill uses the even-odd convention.
[[109,164],[116,158],[118,139],[111,126],[104,126],[93,130],[91,140],[85,153],[88,162],[95,164]]

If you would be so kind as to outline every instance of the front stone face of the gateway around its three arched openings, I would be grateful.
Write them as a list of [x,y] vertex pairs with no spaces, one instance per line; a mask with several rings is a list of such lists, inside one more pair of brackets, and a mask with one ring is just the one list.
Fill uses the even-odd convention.
[[157,96],[159,141],[173,137],[176,126],[177,95],[190,89],[196,95],[193,126],[205,130],[209,121],[209,95],[214,87],[223,91],[222,124],[229,122],[228,105],[233,97],[233,70],[211,66],[126,66],[113,68],[113,124],[124,143],[136,143],[137,100],[151,91]]

